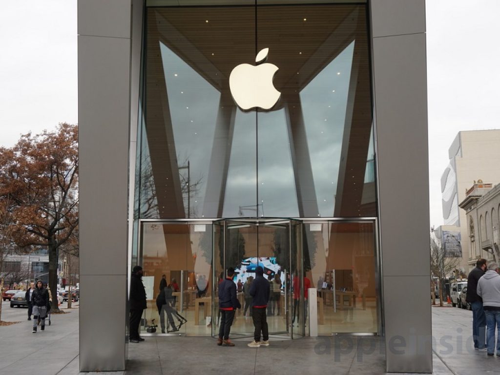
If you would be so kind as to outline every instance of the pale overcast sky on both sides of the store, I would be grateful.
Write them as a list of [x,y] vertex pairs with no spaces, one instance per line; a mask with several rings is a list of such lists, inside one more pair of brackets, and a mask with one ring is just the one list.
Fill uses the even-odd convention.
[[[500,128],[498,14],[500,0],[426,1],[431,225],[456,133]],[[0,0],[0,145],[77,123],[76,32],[76,0]]]

